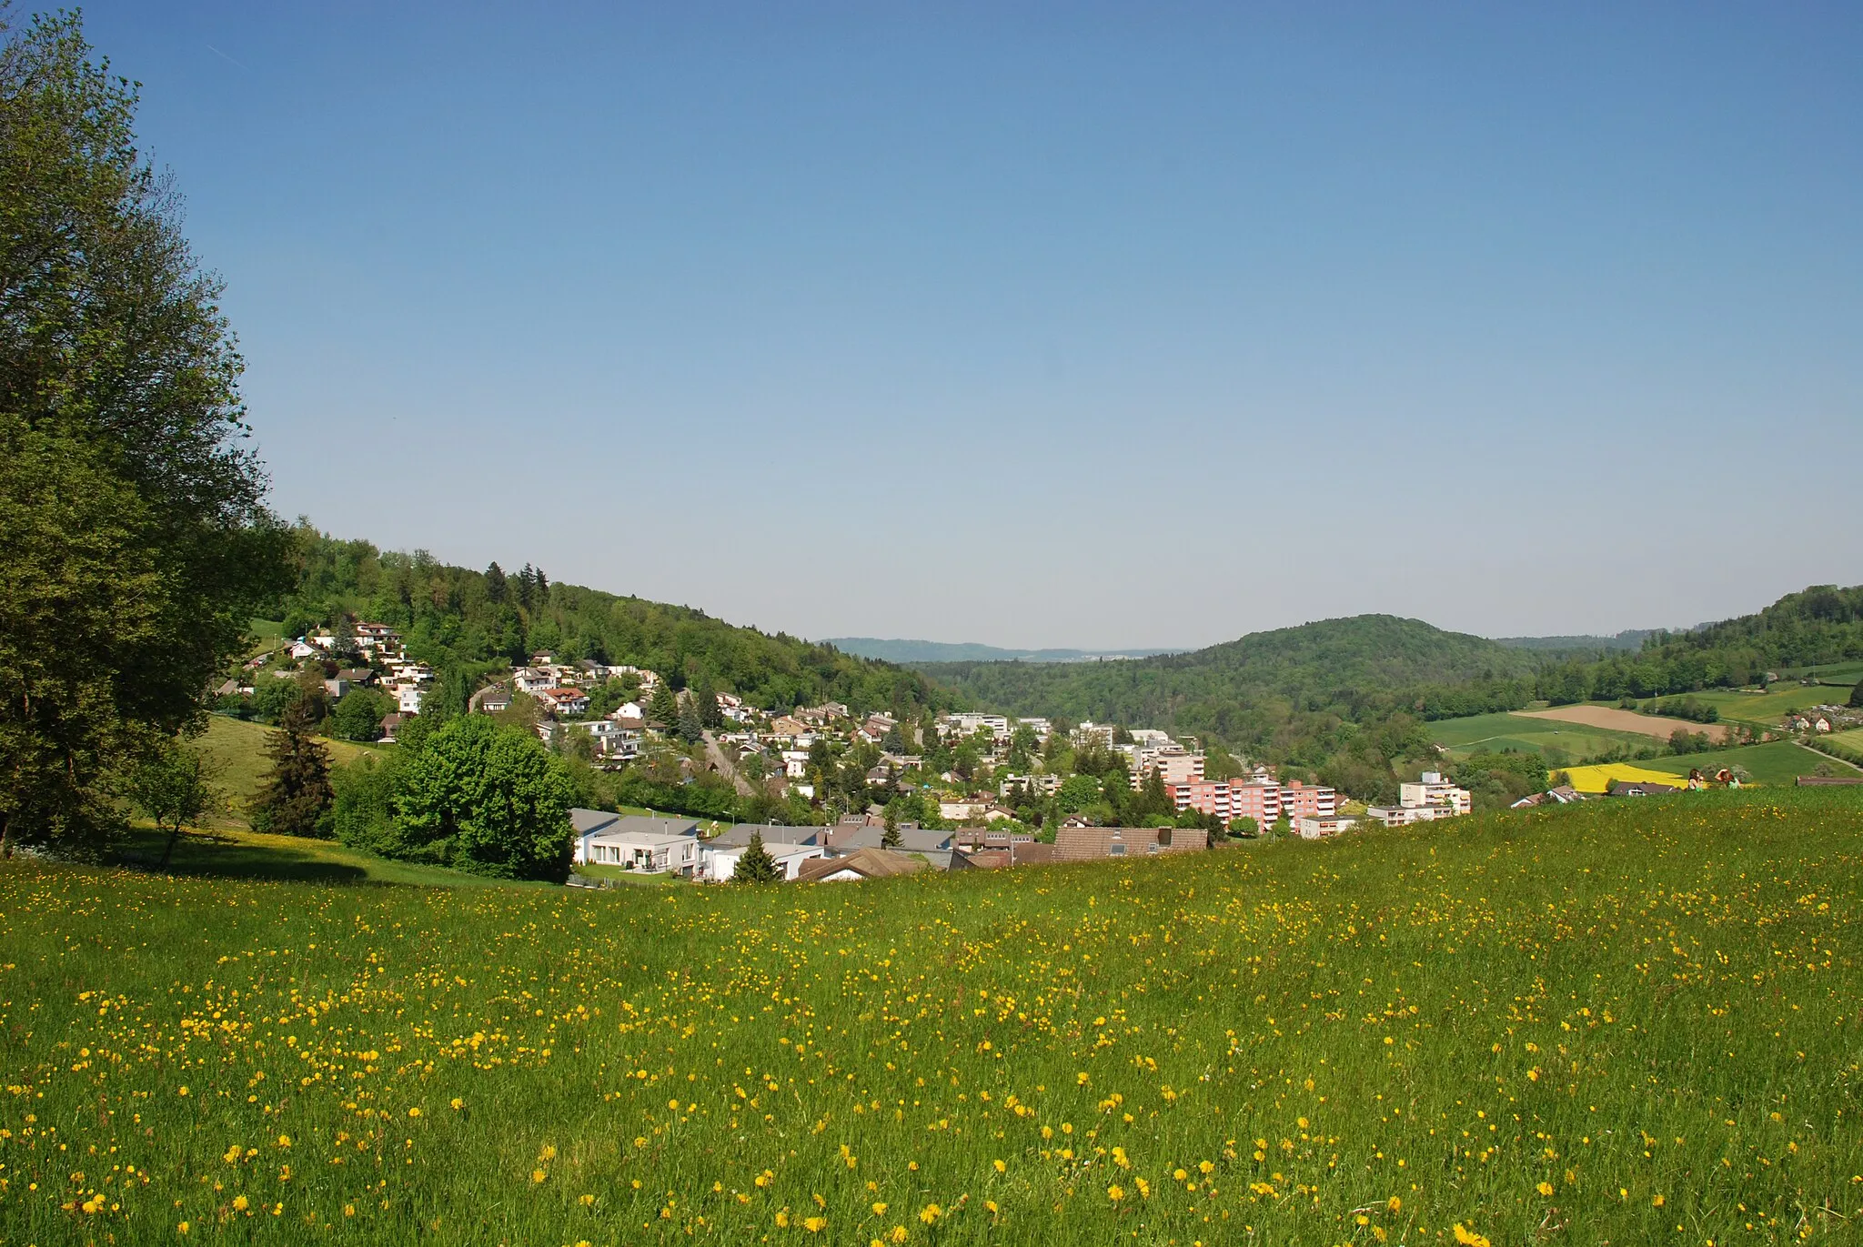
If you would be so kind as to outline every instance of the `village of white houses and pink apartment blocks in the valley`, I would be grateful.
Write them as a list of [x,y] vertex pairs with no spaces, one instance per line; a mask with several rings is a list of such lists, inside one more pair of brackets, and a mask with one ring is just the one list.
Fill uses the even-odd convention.
[[[391,706],[376,723],[382,744],[421,714],[436,680],[430,665],[406,656],[395,628],[358,621],[253,658],[218,692],[252,701],[272,680],[319,675],[332,706],[360,697]],[[1056,727],[982,712],[911,723],[835,701],[764,710],[725,692],[673,692],[637,665],[559,662],[548,651],[475,688],[466,710],[518,721],[550,749],[600,770],[671,764],[686,777],[797,802],[812,816],[809,826],[721,826],[574,809],[570,882],[598,887],[617,872],[727,882],[747,852],[768,854],[781,880],[842,882],[1202,852],[1276,829],[1317,841],[1472,811],[1470,792],[1440,774],[1405,783],[1394,805],[1364,805],[1259,762],[1239,766],[1228,753],[1218,755],[1224,774],[1211,774],[1211,755],[1194,738],[1157,729]],[[1099,759],[1095,774],[1077,770],[1086,757]],[[861,781],[850,785],[850,770]],[[1122,826],[1114,798],[1127,790],[1149,798],[1146,826]]]

